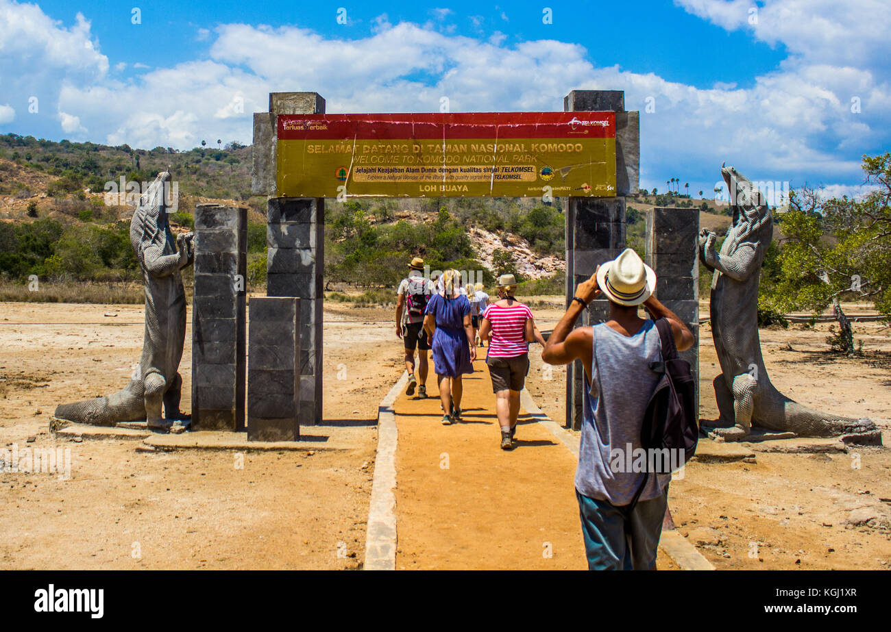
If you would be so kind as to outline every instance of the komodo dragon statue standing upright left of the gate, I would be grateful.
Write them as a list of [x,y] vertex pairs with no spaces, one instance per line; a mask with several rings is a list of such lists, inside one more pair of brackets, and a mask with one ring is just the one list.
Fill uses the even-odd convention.
[[[80,424],[114,425],[145,419],[154,430],[167,430],[184,416],[179,411],[183,379],[176,369],[185,340],[185,291],[180,271],[194,259],[192,233],[174,238],[165,207],[161,172],[139,199],[130,221],[130,243],[143,271],[145,333],[143,355],[130,383],[118,393],[61,404],[54,417]],[[161,406],[167,420],[161,417]]]

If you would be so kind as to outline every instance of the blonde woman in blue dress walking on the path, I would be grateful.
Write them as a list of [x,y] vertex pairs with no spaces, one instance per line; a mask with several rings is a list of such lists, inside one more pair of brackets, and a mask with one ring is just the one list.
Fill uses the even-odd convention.
[[461,421],[462,375],[473,373],[477,359],[470,323],[470,301],[461,294],[461,273],[446,270],[439,292],[430,298],[424,316],[424,329],[432,341],[433,369],[437,373],[443,425]]

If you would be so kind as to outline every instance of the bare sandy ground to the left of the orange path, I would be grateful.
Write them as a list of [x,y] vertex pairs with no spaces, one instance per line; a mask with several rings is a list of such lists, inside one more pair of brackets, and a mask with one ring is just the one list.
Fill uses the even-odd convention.
[[[399,344],[380,344],[390,328],[363,326],[368,315],[325,314],[326,430],[350,449],[247,453],[242,466],[233,452],[60,442],[68,480],[0,474],[0,568],[361,568],[377,407],[403,370]],[[0,446],[54,447],[55,405],[125,385],[142,323],[141,306],[0,304]]]

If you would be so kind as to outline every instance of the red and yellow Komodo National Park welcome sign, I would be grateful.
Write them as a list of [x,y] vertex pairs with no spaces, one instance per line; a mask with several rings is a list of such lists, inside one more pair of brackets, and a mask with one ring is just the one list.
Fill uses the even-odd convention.
[[279,115],[282,198],[616,195],[613,112]]

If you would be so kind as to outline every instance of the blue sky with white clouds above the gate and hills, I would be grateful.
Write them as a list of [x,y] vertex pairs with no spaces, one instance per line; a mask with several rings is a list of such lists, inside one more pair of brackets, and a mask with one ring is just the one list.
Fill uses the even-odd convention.
[[0,132],[189,149],[250,142],[270,91],[334,113],[556,110],[618,89],[642,112],[643,187],[709,191],[727,160],[832,193],[891,138],[885,0],[142,4],[0,0]]

